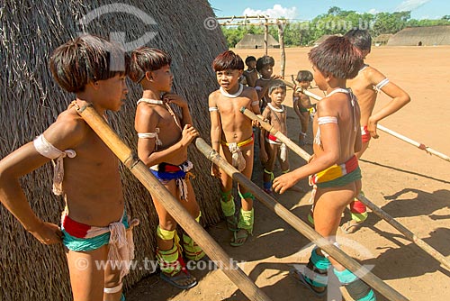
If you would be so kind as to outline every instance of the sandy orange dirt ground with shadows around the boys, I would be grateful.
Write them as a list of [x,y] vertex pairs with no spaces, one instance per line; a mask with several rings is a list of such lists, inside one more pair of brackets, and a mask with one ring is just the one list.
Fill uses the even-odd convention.
[[[286,79],[300,69],[311,69],[308,51],[307,48],[286,50]],[[264,54],[264,50],[237,52],[243,59],[247,55]],[[269,50],[269,55],[275,58],[275,73],[278,73],[279,50]],[[450,155],[450,99],[446,90],[450,87],[449,57],[450,47],[374,47],[366,59],[411,96],[409,105],[380,124],[446,155]],[[317,89],[311,91],[322,95]],[[375,110],[388,101],[381,94]],[[286,98],[285,105],[289,107],[289,136],[298,141],[299,122],[292,109],[292,97]],[[371,141],[360,162],[365,196],[450,260],[450,162],[384,132],[379,134],[380,138]],[[310,131],[307,138],[310,142],[311,136]],[[311,153],[311,145],[305,150]],[[289,160],[292,169],[304,164],[293,152]],[[256,161],[254,181],[258,185],[262,185],[261,174]],[[275,171],[277,174],[279,169]],[[298,185],[305,193],[289,191],[276,198],[306,221],[311,190],[306,180]],[[208,232],[273,300],[319,300],[289,276],[293,265],[306,264],[311,242],[261,203],[256,202],[255,211],[254,234],[242,247],[229,246],[229,233],[223,222]],[[346,213],[342,223],[348,219]],[[410,300],[448,300],[450,269],[375,214],[369,214],[365,227],[358,232],[348,235],[339,232],[338,242],[344,251],[361,264],[373,267],[376,276]],[[193,270],[192,273],[199,284],[188,291],[171,287],[155,275],[130,289],[127,300],[247,299],[220,270]],[[381,294],[377,296],[378,300],[385,300]],[[344,298],[350,300],[346,293]]]

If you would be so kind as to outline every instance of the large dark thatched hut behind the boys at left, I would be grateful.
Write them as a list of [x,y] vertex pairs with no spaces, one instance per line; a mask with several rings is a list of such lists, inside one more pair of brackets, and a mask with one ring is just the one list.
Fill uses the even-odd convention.
[[[104,37],[111,32],[124,32],[126,41],[135,41],[126,44],[128,50],[145,44],[169,52],[175,74],[174,90],[187,99],[194,125],[209,141],[207,99],[217,88],[211,61],[227,47],[219,27],[204,25],[205,19],[214,17],[208,1],[124,2],[128,6],[106,0],[2,2],[0,123],[4,130],[0,133],[0,158],[39,135],[74,99],[52,80],[48,60],[52,50],[81,31]],[[138,40],[139,37],[143,38]],[[112,114],[110,120],[121,138],[135,149],[134,112],[141,91],[132,83],[129,87],[129,103],[121,113]],[[219,187],[210,176],[211,164],[193,147],[190,159],[197,167],[193,185],[202,220],[206,224],[217,223],[220,203],[211,191]],[[42,219],[58,223],[64,201],[51,194],[49,165],[23,178],[23,187],[33,210]],[[141,221],[134,231],[137,262],[144,258],[153,260],[157,214],[150,196],[128,170],[122,169],[122,183],[127,211]],[[40,244],[3,205],[0,219],[0,299],[71,300],[62,246]],[[151,272],[133,270],[125,285],[130,287]]]

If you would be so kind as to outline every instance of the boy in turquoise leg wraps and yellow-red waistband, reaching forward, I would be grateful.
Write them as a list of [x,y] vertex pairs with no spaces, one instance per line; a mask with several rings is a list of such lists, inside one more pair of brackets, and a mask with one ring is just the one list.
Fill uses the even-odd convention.
[[[341,214],[361,191],[361,170],[355,153],[361,150],[360,110],[356,96],[347,88],[363,65],[363,55],[345,37],[332,36],[309,53],[314,80],[327,96],[317,104],[313,132],[314,154],[307,165],[274,180],[274,190],[283,193],[302,178],[311,176],[314,185],[314,229],[336,244]],[[327,292],[330,264],[339,282],[355,300],[374,301],[371,287],[314,248],[307,267],[294,269],[293,277],[317,296]]]

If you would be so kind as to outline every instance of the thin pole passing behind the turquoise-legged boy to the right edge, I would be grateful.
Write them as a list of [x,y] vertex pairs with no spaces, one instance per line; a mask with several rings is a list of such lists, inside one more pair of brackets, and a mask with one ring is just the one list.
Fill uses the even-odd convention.
[[[243,114],[245,114],[248,118],[251,120],[257,120],[262,127],[267,132],[270,132],[273,134],[276,138],[278,138],[280,141],[284,142],[287,147],[289,147],[291,150],[293,150],[295,153],[297,153],[300,157],[302,157],[303,160],[309,161],[311,158],[311,155],[306,152],[305,150],[302,150],[300,146],[293,143],[289,138],[287,138],[282,132],[276,131],[270,123],[266,123],[263,121],[259,116],[254,114],[253,112],[247,110],[245,107],[242,107],[240,110]],[[408,239],[410,239],[411,242],[416,243],[417,246],[419,246],[420,249],[423,251],[426,251],[432,258],[442,263],[447,269],[450,269],[450,261],[446,259],[444,255],[439,253],[436,249],[434,249],[432,246],[430,246],[427,242],[422,241],[416,234],[410,232],[405,226],[403,226],[401,223],[397,222],[391,215],[384,212],[380,207],[377,205],[374,205],[371,201],[369,201],[365,196],[362,194],[359,194],[357,196],[357,199],[360,200],[364,205],[369,207],[374,214],[377,214],[379,217],[381,217],[384,221],[391,224],[392,227],[397,229],[400,233],[404,234]]]

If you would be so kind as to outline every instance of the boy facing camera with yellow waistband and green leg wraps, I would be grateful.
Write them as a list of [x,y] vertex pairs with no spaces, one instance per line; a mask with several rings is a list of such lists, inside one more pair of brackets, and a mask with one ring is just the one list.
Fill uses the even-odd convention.
[[[211,116],[212,149],[231,163],[244,176],[251,178],[253,171],[253,127],[252,121],[240,113],[246,107],[255,114],[259,113],[257,92],[252,87],[239,84],[244,71],[244,62],[233,51],[220,53],[213,62],[220,88],[209,96],[208,104]],[[247,188],[238,185],[241,210],[237,221],[234,198],[231,194],[233,180],[225,172],[212,164],[211,174],[220,178],[220,205],[226,217],[227,226],[233,233],[232,246],[240,246],[253,232],[254,196]]]

